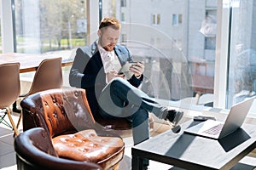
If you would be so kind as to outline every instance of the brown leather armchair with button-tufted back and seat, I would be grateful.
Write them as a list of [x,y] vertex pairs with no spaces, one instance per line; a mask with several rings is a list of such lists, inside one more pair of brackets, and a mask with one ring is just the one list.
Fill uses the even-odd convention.
[[124,156],[121,138],[100,126],[90,112],[85,90],[55,88],[27,96],[20,102],[23,130],[43,127],[57,156],[117,169]]

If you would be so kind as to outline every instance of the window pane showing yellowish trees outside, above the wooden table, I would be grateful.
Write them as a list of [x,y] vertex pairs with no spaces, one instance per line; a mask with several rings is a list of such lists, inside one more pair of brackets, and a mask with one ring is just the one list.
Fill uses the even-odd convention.
[[84,0],[15,0],[16,52],[43,54],[86,44]]

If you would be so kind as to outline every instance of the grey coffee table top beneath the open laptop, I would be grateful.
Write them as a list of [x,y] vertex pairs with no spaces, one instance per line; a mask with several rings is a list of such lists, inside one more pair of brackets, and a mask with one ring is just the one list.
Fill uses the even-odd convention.
[[132,156],[148,158],[186,169],[230,169],[256,146],[256,127],[242,128],[223,139],[207,139],[183,129],[199,122],[185,122],[180,133],[166,131],[132,147]]

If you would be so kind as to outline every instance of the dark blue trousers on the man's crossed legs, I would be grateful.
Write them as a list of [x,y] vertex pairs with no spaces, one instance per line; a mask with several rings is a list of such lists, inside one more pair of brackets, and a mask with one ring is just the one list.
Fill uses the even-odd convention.
[[105,118],[125,117],[131,121],[134,144],[149,138],[148,112],[161,117],[166,107],[122,78],[114,78],[98,99],[100,114]]

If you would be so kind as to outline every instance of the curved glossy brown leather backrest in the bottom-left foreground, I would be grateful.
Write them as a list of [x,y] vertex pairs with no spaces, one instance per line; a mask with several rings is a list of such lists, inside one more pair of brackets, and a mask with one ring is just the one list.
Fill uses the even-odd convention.
[[42,127],[35,127],[20,133],[15,138],[15,152],[18,170],[100,170],[95,163],[73,161],[57,156],[49,134]]

